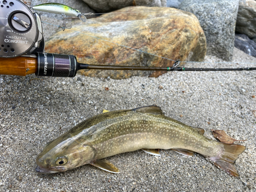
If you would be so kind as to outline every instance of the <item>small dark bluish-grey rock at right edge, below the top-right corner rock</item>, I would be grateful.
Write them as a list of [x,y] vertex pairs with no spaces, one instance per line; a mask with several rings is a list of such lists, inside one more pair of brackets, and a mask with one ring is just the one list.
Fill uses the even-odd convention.
[[240,49],[241,51],[256,57],[256,42],[251,40],[247,35],[236,34],[234,39],[234,47]]

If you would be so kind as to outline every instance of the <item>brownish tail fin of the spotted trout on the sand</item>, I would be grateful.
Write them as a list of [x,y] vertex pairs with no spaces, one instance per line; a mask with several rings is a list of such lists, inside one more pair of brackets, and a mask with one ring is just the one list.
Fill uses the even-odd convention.
[[239,177],[238,171],[234,166],[234,162],[238,156],[244,152],[245,146],[236,144],[221,143],[224,147],[222,155],[218,157],[210,157],[210,160],[219,168],[223,169],[227,174]]

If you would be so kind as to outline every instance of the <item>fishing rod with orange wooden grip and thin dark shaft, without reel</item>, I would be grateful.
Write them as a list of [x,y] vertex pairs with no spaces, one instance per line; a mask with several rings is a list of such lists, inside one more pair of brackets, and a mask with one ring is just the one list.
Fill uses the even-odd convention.
[[[13,65],[15,63],[15,65]],[[37,53],[15,58],[0,58],[0,74],[50,77],[75,77],[79,70],[133,70],[133,71],[253,71],[256,68],[183,68],[176,61],[172,67],[132,67],[89,65],[79,63],[74,55]]]

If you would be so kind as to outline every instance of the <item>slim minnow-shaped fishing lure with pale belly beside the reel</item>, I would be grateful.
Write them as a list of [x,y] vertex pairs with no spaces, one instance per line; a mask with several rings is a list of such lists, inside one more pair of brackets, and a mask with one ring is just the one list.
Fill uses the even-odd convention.
[[67,5],[59,4],[59,3],[46,3],[40,4],[32,7],[35,11],[43,11],[49,13],[56,13],[56,14],[65,14],[69,16],[76,16],[82,22],[86,22],[87,18],[84,15],[92,15],[93,13],[81,13],[77,9],[73,9]]

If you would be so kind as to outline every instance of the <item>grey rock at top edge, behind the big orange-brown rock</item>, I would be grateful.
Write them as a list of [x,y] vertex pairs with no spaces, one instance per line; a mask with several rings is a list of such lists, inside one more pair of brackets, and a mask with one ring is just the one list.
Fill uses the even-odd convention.
[[166,7],[166,0],[83,0],[99,13],[129,6]]

